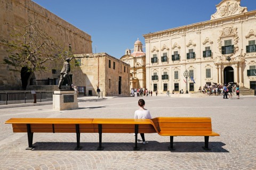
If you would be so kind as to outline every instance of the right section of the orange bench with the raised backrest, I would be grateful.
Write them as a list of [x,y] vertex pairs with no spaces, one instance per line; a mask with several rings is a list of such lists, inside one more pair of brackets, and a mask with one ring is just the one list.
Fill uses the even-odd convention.
[[174,150],[175,136],[204,136],[205,150],[210,150],[209,137],[219,136],[212,131],[210,117],[156,117],[152,121],[159,135],[170,136],[170,150]]

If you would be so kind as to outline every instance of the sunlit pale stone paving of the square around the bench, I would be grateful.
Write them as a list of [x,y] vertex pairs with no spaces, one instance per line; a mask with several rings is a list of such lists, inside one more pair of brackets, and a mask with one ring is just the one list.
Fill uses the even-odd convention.
[[[210,151],[203,150],[204,137],[174,137],[176,150],[170,151],[170,137],[145,134],[146,145],[134,151],[133,134],[103,133],[98,151],[98,133],[81,133],[81,150],[75,133],[34,133],[34,150],[26,133],[13,133],[12,117],[133,118],[138,100],[152,117],[211,117],[212,129],[220,137],[210,137]],[[79,109],[53,111],[52,105],[0,109],[0,169],[256,169],[256,97],[222,99],[221,96],[119,97],[97,101],[80,99]]]

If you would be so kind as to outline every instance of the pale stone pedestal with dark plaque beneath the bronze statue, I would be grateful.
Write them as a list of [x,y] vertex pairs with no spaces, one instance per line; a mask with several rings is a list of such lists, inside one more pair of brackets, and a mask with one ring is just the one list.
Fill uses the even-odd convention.
[[53,109],[56,111],[78,109],[77,95],[74,90],[57,90],[53,94]]

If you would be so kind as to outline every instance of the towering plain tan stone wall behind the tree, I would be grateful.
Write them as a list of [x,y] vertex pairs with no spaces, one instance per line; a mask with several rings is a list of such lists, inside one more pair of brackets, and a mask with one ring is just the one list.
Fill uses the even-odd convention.
[[[79,30],[57,15],[30,0],[0,0],[0,39],[13,40],[10,35],[19,30],[18,24],[40,21],[40,27],[63,47],[72,48],[74,54],[92,53],[91,36]],[[0,43],[0,90],[20,90],[21,73],[10,71],[11,66],[2,64],[7,57],[6,47]],[[34,80],[58,79],[60,68],[49,72],[36,72]]]

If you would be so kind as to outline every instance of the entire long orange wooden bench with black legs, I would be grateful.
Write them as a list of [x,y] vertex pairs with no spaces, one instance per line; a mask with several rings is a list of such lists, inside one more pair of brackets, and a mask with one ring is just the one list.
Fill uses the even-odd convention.
[[170,136],[170,149],[173,149],[174,136],[204,136],[208,148],[209,136],[219,134],[212,132],[209,117],[156,117],[148,119],[127,118],[11,118],[5,122],[12,124],[13,132],[28,134],[28,148],[33,149],[33,134],[41,133],[76,133],[77,146],[81,149],[81,133],[99,133],[99,147],[102,150],[102,133],[135,133],[134,150],[138,150],[138,133],[158,133]]

